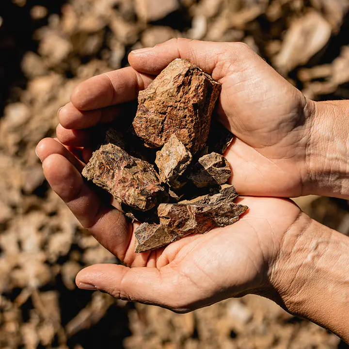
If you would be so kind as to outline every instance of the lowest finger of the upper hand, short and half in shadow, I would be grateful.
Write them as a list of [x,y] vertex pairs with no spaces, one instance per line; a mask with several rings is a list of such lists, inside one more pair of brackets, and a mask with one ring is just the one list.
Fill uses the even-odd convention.
[[56,128],[56,136],[58,140],[68,146],[86,147],[97,144],[103,138],[98,128],[66,129],[61,124]]

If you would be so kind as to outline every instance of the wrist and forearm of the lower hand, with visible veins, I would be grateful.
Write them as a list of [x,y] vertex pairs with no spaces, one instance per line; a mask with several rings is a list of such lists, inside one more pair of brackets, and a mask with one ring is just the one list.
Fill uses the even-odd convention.
[[349,238],[301,213],[271,268],[274,301],[348,341],[348,265]]

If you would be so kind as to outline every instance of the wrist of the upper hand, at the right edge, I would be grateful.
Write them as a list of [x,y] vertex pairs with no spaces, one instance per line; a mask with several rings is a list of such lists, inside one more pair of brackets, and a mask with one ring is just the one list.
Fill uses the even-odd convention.
[[304,194],[349,197],[349,101],[309,101]]

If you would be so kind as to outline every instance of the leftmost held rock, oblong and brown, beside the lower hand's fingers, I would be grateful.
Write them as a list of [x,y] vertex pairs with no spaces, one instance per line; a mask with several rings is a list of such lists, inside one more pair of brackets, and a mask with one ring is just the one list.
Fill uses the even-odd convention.
[[82,175],[115,199],[142,211],[168,200],[153,165],[131,157],[114,144],[102,145],[95,151]]

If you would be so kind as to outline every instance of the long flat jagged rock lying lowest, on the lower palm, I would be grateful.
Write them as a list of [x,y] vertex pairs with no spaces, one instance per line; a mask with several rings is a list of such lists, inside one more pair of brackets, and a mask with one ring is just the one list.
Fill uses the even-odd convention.
[[143,223],[135,231],[136,253],[156,250],[189,234],[205,234],[237,222],[248,209],[234,203],[237,196],[235,188],[226,185],[214,195],[178,204],[160,204],[160,224]]

